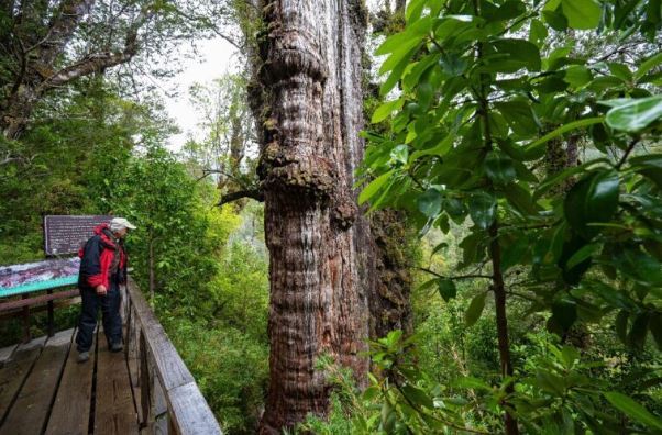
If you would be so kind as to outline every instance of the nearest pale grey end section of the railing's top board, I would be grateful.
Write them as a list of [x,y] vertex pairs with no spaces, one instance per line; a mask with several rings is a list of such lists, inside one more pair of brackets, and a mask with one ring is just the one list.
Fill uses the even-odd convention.
[[195,382],[167,392],[172,423],[177,434],[221,434],[221,427]]

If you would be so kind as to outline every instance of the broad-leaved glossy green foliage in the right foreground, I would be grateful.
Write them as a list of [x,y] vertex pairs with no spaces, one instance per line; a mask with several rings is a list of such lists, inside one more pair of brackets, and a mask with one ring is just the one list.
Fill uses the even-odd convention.
[[[449,304],[460,298],[467,326],[497,322],[493,346],[512,354],[499,353],[501,367],[515,366],[512,375],[479,371],[464,381],[473,394],[485,391],[473,405],[463,394],[463,405],[430,408],[454,403],[440,393],[444,386],[434,390],[400,350],[375,350],[378,365],[389,361],[385,369],[400,366],[394,375],[402,382],[394,389],[378,381],[380,431],[477,421],[500,432],[499,413],[528,433],[655,428],[659,416],[615,399],[602,382],[610,375],[597,369],[599,357],[567,343],[574,331],[593,327],[643,355],[652,345],[647,337],[660,336],[662,58],[644,42],[662,25],[653,3],[415,0],[405,29],[376,49],[386,56],[380,92],[390,101],[373,114],[379,134],[364,134],[369,147],[360,175],[369,183],[360,202],[407,210],[421,234],[473,224],[452,246],[461,258],[421,290],[439,286]],[[633,47],[629,62],[615,55],[619,44]],[[576,153],[577,143],[582,164],[554,160],[553,149]],[[472,276],[492,282],[471,294],[451,291],[449,282]],[[519,359],[512,325],[538,315],[560,342]],[[621,388],[615,394],[636,392]]]

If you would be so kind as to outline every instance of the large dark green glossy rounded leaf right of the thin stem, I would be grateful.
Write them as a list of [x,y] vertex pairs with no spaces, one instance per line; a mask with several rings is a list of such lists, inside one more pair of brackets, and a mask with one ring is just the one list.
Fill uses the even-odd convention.
[[563,203],[565,219],[580,234],[591,238],[597,228],[589,224],[609,222],[618,208],[618,172],[597,170],[582,178],[567,192]]

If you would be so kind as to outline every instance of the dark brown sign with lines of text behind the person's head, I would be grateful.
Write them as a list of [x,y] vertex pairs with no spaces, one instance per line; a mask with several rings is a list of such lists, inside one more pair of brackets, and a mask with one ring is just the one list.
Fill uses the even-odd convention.
[[95,226],[109,223],[112,216],[44,216],[44,252],[47,256],[78,253],[90,238]]

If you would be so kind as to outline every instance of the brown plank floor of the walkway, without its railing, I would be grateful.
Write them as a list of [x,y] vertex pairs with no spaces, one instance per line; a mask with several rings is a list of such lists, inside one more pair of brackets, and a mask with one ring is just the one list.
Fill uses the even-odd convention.
[[139,434],[126,354],[95,339],[78,364],[75,331],[0,349],[0,435]]

